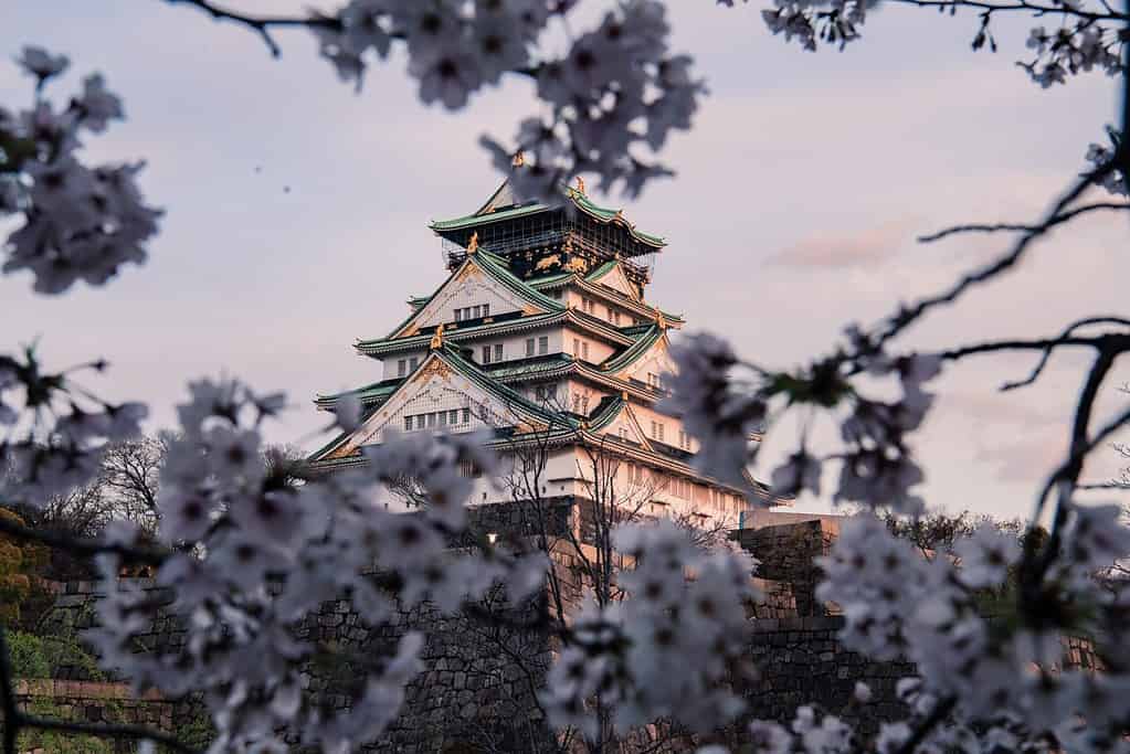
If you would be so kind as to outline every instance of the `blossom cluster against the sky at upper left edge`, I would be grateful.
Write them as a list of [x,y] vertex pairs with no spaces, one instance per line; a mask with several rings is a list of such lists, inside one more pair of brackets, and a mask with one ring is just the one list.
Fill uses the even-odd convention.
[[80,137],[121,120],[121,100],[95,73],[56,108],[42,93],[67,69],[67,58],[26,47],[17,62],[36,86],[29,109],[0,107],[0,218],[23,218],[3,244],[2,271],[31,271],[43,293],[61,293],[78,280],[101,286],[123,264],[146,260],[160,217],[137,185],[144,163],[90,167],[79,159]]

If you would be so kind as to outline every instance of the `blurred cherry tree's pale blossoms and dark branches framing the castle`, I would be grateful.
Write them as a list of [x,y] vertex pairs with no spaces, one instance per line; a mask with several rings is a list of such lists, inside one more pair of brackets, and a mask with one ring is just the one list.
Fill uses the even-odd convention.
[[[1118,506],[1076,499],[1083,462],[1130,421],[1130,409],[1099,421],[1095,400],[1115,361],[1130,350],[1130,319],[1095,316],[1066,324],[1037,340],[957,343],[937,353],[909,353],[901,336],[935,310],[957,305],[971,289],[1008,273],[1051,228],[1094,212],[1130,209],[1130,14],[1105,0],[888,0],[956,12],[979,23],[973,47],[997,49],[992,24],[1001,15],[1053,19],[1033,29],[1022,65],[1043,87],[1101,70],[1122,87],[1121,122],[1086,152],[1078,181],[1041,218],[1028,222],[966,225],[923,238],[1001,234],[1008,247],[988,265],[921,300],[902,303],[870,326],[847,324],[842,343],[796,371],[739,359],[722,340],[699,334],[678,349],[670,407],[702,442],[698,463],[720,479],[740,481],[757,461],[750,435],[772,433],[781,417],[802,412],[840,427],[842,447],[817,454],[806,439],[771,473],[779,493],[817,491],[826,467],[838,471],[835,497],[864,508],[916,515],[914,488],[923,472],[911,438],[930,409],[929,382],[973,357],[1032,352],[1038,379],[1051,353],[1083,349],[1093,359],[1079,382],[1069,450],[1040,485],[1029,525],[1048,519],[1046,537],[1015,537],[982,528],[955,545],[954,560],[924,560],[873,516],[845,526],[822,563],[822,598],[844,608],[842,640],[877,659],[901,656],[919,676],[905,680],[906,720],[885,724],[864,739],[845,722],[800,707],[791,726],[755,722],[746,731],[754,751],[814,752],[873,748],[910,751],[1124,751],[1130,724],[1127,596],[1121,584],[1095,573],[1130,553],[1130,531]],[[322,55],[340,78],[360,87],[368,65],[403,46],[409,74],[425,103],[460,109],[469,95],[505,76],[532,78],[546,115],[523,121],[512,141],[485,138],[496,165],[507,168],[516,150],[525,169],[515,188],[548,195],[563,178],[594,174],[603,190],[635,194],[669,169],[658,161],[667,137],[690,126],[703,82],[689,55],[669,49],[664,9],[654,0],[618,3],[591,28],[570,34],[564,55],[541,41],[550,25],[566,30],[579,2],[570,0],[353,0],[334,12],[304,17],[254,17],[209,0],[171,0],[188,10],[241,25],[271,54],[277,33],[297,28],[318,36]],[[733,5],[723,2],[722,5]],[[770,30],[809,50],[855,44],[873,1],[779,0],[762,10]],[[703,12],[711,12],[705,7]],[[715,12],[740,12],[719,9]],[[47,85],[68,65],[37,47],[19,63],[34,80],[29,107],[0,108],[0,213],[15,220],[5,244],[6,273],[28,271],[42,293],[61,293],[79,281],[103,286],[127,263],[146,258],[162,212],[138,188],[142,166],[88,166],[81,139],[96,137],[123,115],[121,99],[98,74],[84,81],[63,107]],[[1080,149],[1080,151],[1083,151]],[[644,157],[646,155],[646,157]],[[1104,194],[1097,199],[1095,194]],[[32,350],[0,357],[0,423],[8,427],[0,453],[15,468],[0,499],[42,506],[87,483],[106,442],[133,437],[146,415],[137,403],[111,404],[81,387],[84,369],[46,370]],[[876,383],[896,386],[896,401]],[[12,397],[15,396],[15,397]],[[395,604],[434,603],[452,612],[502,588],[521,603],[538,591],[545,559],[489,542],[451,551],[466,527],[469,482],[460,464],[487,473],[493,459],[473,437],[412,437],[367,448],[363,471],[295,486],[260,456],[260,431],[284,406],[281,394],[262,393],[233,379],[189,385],[179,406],[180,436],[168,447],[157,505],[162,545],[113,527],[98,540],[60,536],[0,518],[0,532],[72,552],[96,555],[110,589],[92,633],[103,661],[140,689],[201,694],[218,731],[212,751],[280,751],[298,739],[345,752],[380,736],[397,716],[405,684],[420,668],[421,637],[408,633],[388,657],[370,658],[354,707],[324,709],[302,683],[301,668],[332,651],[303,642],[296,622],[318,603],[350,598],[366,621],[380,624]],[[340,411],[338,423],[356,421]],[[373,505],[375,485],[414,480],[427,498],[420,515],[393,515]],[[606,720],[626,729],[659,718],[695,730],[733,720],[741,701],[724,684],[745,648],[742,602],[755,595],[750,563],[725,552],[695,547],[673,525],[625,526],[615,547],[635,568],[619,577],[629,599],[594,605],[560,626],[563,649],[548,674],[542,704],[550,720],[590,739]],[[167,654],[137,654],[132,639],[154,606],[119,585],[123,562],[157,569],[172,587],[174,610],[189,639]],[[374,570],[375,569],[375,570]],[[687,580],[687,572],[695,578]],[[1005,620],[976,608],[979,590],[1015,573]],[[1061,637],[1093,637],[1105,664],[1101,675],[1054,672]],[[8,655],[0,631],[2,748],[15,752],[20,728],[71,729],[184,744],[154,730],[43,719],[16,708]],[[866,696],[866,691],[861,692]]]

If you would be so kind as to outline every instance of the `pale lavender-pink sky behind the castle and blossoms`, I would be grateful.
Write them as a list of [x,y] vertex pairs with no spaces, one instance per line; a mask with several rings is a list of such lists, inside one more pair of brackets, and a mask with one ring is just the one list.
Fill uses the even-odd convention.
[[[871,323],[1002,249],[1005,238],[923,246],[914,237],[1035,218],[1083,169],[1118,105],[1113,80],[1098,73],[1050,91],[1027,80],[1014,62],[1035,21],[999,27],[993,55],[970,51],[973,15],[884,8],[862,42],[814,55],[770,36],[757,2],[669,7],[675,47],[696,58],[711,96],[666,152],[675,179],[631,203],[596,199],[668,238],[651,300],[774,367],[831,349],[847,322]],[[315,393],[379,379],[377,362],[351,343],[386,334],[409,295],[443,281],[428,220],[476,209],[499,181],[479,135],[507,137],[537,112],[520,81],[455,115],[425,107],[402,59],[373,69],[357,95],[304,32],[279,33],[284,55],[272,60],[253,34],[160,0],[8,0],[2,16],[3,59],[28,43],[71,58],[56,98],[81,74],[105,74],[129,120],[89,139],[89,151],[147,159],[141,186],[167,214],[150,262],[105,288],[44,298],[26,274],[0,278],[0,343],[37,337],[56,367],[106,357],[113,369],[88,386],[148,402],[154,428],[173,423],[186,379],[225,372],[287,391],[294,407],[268,439],[298,442],[325,419],[310,403]],[[29,97],[29,80],[0,60],[0,104]],[[1128,314],[1125,222],[1095,217],[1058,233],[903,345],[1040,337],[1079,316]],[[928,503],[1029,509],[1066,448],[1085,361],[1058,358],[1038,385],[996,393],[1032,363],[985,358],[939,380],[916,446]],[[1114,391],[1130,380],[1120,367],[1103,412],[1127,400]],[[1119,461],[1102,450],[1085,475],[1109,479]],[[826,505],[805,498],[798,509]]]

